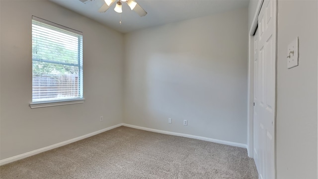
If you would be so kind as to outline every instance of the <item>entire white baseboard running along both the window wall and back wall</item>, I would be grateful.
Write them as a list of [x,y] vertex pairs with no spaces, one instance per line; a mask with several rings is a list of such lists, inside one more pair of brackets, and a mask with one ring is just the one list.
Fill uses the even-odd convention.
[[208,137],[201,137],[201,136],[195,136],[195,135],[190,135],[190,134],[182,134],[182,133],[177,133],[177,132],[169,132],[169,131],[164,131],[164,130],[158,130],[158,129],[152,129],[152,128],[147,128],[147,127],[140,127],[140,126],[135,126],[135,125],[121,123],[121,124],[110,126],[110,127],[105,128],[105,129],[101,129],[101,130],[98,130],[98,131],[83,135],[83,136],[79,136],[79,137],[74,138],[74,139],[70,139],[70,140],[67,140],[67,141],[64,141],[64,142],[60,142],[60,143],[53,144],[53,145],[50,145],[50,146],[47,146],[47,147],[43,147],[41,149],[34,150],[34,151],[31,151],[31,152],[27,152],[27,153],[24,153],[24,154],[20,154],[20,155],[17,155],[17,156],[13,156],[13,157],[10,157],[10,158],[7,158],[7,159],[0,160],[0,166],[4,165],[4,164],[11,163],[11,162],[14,162],[14,161],[17,161],[17,160],[21,160],[21,159],[24,159],[24,158],[27,158],[27,157],[30,157],[30,156],[33,156],[33,155],[48,151],[48,150],[52,150],[52,149],[55,149],[55,148],[58,148],[58,147],[62,147],[62,146],[65,146],[67,144],[71,144],[73,142],[85,139],[87,137],[91,137],[91,136],[97,135],[99,133],[102,133],[102,132],[105,132],[105,131],[108,131],[108,130],[111,130],[111,129],[114,129],[114,128],[120,127],[120,126],[126,126],[126,127],[131,127],[131,128],[141,129],[141,130],[151,131],[151,132],[157,132],[157,133],[161,133],[161,134],[168,134],[168,135],[174,135],[174,136],[187,137],[187,138],[191,138],[191,139],[209,141],[209,142],[225,144],[225,145],[230,145],[230,146],[235,146],[235,147],[247,148],[246,144],[241,144],[241,143],[236,143],[236,142],[229,142],[229,141],[224,141],[224,140],[212,139],[212,138],[208,138]]

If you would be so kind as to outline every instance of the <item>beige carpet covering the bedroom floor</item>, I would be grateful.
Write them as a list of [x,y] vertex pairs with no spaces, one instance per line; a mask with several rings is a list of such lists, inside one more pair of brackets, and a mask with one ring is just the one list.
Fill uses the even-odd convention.
[[0,167],[1,179],[257,179],[246,149],[118,127]]

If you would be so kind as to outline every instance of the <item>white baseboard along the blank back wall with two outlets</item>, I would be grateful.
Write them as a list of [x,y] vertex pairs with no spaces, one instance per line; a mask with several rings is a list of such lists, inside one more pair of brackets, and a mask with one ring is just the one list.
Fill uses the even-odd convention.
[[241,143],[236,143],[236,142],[229,142],[229,141],[224,141],[224,140],[218,140],[218,139],[212,139],[208,137],[201,137],[201,136],[195,136],[195,135],[190,135],[190,134],[182,134],[182,133],[177,133],[177,132],[169,132],[169,131],[164,131],[164,130],[158,130],[158,129],[151,129],[147,127],[140,127],[140,126],[135,126],[135,125],[130,125],[130,124],[122,124],[123,126],[126,127],[131,127],[135,129],[141,129],[145,131],[151,131],[151,132],[157,132],[161,134],[168,134],[168,135],[174,135],[174,136],[181,136],[181,137],[187,137],[191,139],[198,139],[198,140],[203,140],[203,141],[209,141],[209,142],[214,142],[214,143],[219,143],[219,144],[225,144],[225,145],[230,145],[230,146],[235,146],[235,147],[241,147],[241,148],[246,148],[246,144],[241,144]]

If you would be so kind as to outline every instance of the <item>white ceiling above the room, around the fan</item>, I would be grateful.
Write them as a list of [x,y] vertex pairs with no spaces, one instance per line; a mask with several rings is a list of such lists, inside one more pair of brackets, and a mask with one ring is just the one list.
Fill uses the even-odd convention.
[[[86,4],[79,0],[51,1],[117,31],[127,33],[147,27],[246,7],[249,0],[136,0],[148,12],[144,17],[140,17],[135,11],[131,10],[127,3],[123,3],[123,12],[119,14],[114,11],[116,3],[113,3],[106,12],[98,12],[98,9],[105,3],[104,0],[87,1]],[[119,23],[120,18],[122,19],[121,25]]]

